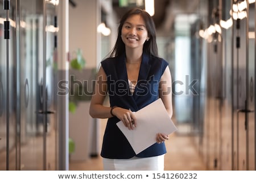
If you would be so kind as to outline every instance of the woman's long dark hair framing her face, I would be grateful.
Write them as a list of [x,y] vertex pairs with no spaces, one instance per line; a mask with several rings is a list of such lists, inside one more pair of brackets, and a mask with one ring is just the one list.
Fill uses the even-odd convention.
[[131,15],[141,15],[147,28],[147,34],[148,38],[150,38],[148,41],[146,41],[143,45],[143,52],[147,53],[150,56],[158,56],[158,47],[156,45],[156,33],[155,33],[155,23],[152,17],[144,10],[142,9],[130,9],[125,13],[119,23],[118,26],[118,36],[117,41],[115,42],[115,46],[110,52],[109,57],[118,57],[123,55],[125,52],[125,44],[122,41],[121,33],[122,33],[122,27],[125,23],[126,19],[129,18]]

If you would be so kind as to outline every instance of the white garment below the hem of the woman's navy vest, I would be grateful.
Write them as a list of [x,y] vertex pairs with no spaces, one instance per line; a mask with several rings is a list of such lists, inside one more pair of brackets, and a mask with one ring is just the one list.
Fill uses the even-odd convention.
[[150,158],[106,159],[103,158],[105,171],[163,171],[164,154]]

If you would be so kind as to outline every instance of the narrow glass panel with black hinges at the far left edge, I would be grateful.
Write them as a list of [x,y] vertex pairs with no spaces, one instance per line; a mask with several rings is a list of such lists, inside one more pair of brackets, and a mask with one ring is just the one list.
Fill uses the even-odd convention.
[[[3,7],[4,6],[4,7]],[[16,169],[16,4],[0,1],[0,169]]]

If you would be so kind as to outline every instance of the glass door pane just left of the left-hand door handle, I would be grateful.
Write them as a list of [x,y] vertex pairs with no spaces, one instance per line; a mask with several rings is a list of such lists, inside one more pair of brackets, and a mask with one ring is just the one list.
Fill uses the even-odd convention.
[[20,0],[20,169],[43,170],[43,1]]

